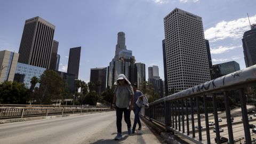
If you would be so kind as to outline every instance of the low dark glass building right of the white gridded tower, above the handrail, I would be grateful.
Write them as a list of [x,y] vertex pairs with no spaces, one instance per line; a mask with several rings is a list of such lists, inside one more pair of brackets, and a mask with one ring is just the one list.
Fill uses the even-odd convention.
[[215,79],[221,76],[225,76],[227,74],[234,73],[237,70],[240,70],[239,63],[237,63],[236,61],[229,61],[213,65],[211,68],[211,73],[213,79]]

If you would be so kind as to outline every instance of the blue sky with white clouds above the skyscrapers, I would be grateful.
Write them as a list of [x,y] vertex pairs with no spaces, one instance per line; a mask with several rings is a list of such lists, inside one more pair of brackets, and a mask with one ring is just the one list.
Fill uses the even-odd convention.
[[163,18],[175,7],[202,17],[213,65],[236,61],[245,68],[242,38],[256,23],[255,0],[23,0],[0,1],[0,51],[19,52],[27,19],[41,17],[55,26],[60,71],[67,71],[69,49],[81,46],[79,79],[90,81],[90,69],[107,67],[115,56],[117,33],[136,62],[158,66],[164,79]]

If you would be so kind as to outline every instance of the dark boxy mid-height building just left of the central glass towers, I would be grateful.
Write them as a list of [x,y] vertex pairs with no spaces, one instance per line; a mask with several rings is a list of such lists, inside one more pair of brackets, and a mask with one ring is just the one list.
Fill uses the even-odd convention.
[[[91,68],[90,82],[95,84],[95,91],[101,93],[106,90],[107,68]],[[100,85],[97,86],[97,83]]]

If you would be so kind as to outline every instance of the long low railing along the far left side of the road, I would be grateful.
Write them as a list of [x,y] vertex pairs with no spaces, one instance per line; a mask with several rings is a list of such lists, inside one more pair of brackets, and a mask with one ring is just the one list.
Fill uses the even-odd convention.
[[109,107],[95,106],[52,106],[52,105],[0,105],[0,119],[33,116],[100,113],[112,111]]

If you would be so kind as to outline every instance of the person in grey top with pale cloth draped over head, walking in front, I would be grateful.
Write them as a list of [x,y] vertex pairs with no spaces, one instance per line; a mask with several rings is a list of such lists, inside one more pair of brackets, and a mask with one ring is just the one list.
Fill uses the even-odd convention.
[[122,137],[122,118],[124,113],[124,121],[127,124],[127,133],[131,134],[131,119],[130,114],[133,109],[133,89],[129,80],[124,74],[118,75],[115,82],[117,84],[114,90],[113,109],[116,109],[116,127],[117,135],[115,140],[121,140]]

